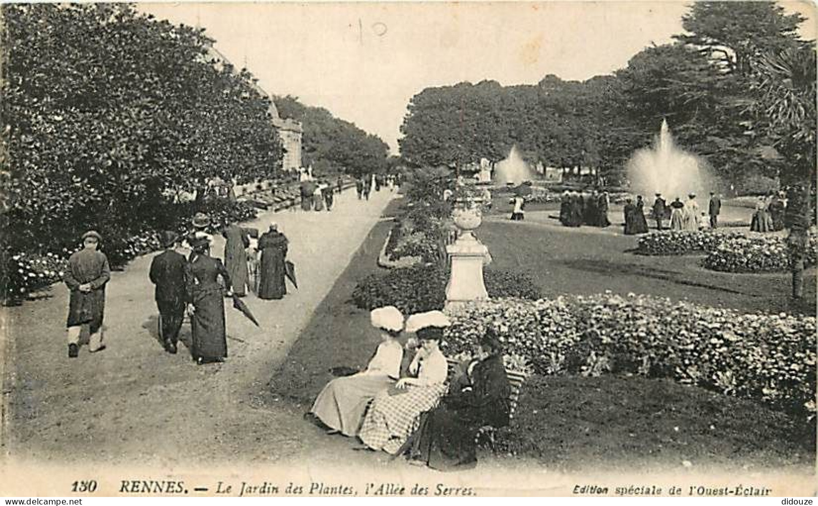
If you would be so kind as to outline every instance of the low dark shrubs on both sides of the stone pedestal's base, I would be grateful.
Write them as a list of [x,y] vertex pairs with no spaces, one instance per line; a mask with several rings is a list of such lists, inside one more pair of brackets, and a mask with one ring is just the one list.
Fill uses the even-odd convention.
[[[483,277],[489,297],[540,297],[537,286],[527,275],[487,269]],[[370,310],[394,306],[406,315],[440,309],[446,302],[448,280],[448,270],[439,266],[393,269],[385,275],[373,274],[361,280],[353,291],[353,302]]]

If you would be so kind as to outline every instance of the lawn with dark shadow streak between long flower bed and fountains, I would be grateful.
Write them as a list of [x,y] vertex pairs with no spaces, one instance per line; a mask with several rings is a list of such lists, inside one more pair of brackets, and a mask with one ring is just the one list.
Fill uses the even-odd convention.
[[592,227],[567,229],[538,222],[483,222],[477,234],[492,267],[528,272],[546,297],[561,293],[645,293],[741,311],[816,314],[816,270],[805,276],[805,300],[790,301],[787,272],[708,271],[698,255],[635,254],[636,237]]

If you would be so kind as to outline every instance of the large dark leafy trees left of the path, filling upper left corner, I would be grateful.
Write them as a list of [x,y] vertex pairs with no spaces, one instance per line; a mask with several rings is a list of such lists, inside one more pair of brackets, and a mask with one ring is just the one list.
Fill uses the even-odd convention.
[[204,30],[128,4],[4,4],[2,16],[2,265],[73,249],[90,228],[116,256],[169,225],[180,190],[275,177],[270,103]]

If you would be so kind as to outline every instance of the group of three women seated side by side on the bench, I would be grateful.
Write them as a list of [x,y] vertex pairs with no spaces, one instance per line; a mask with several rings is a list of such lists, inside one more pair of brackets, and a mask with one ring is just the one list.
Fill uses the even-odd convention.
[[[449,374],[438,347],[450,325],[442,311],[404,322],[397,308],[380,307],[371,311],[371,325],[382,341],[366,369],[334,371],[339,377],[321,390],[308,416],[329,434],[357,438],[359,450],[407,455],[410,463],[444,471],[473,467],[479,429],[509,423],[510,383],[500,341],[488,330],[475,344],[474,358]],[[403,333],[412,336],[405,347],[398,340]],[[405,348],[416,351],[402,368]]]

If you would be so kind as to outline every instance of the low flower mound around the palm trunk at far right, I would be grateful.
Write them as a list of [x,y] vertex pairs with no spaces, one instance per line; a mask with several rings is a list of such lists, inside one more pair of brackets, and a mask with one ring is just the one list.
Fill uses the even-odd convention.
[[[811,233],[804,252],[806,265],[816,264],[816,245],[816,235]],[[784,271],[789,267],[789,246],[778,235],[734,238],[712,249],[703,266],[725,272]]]

